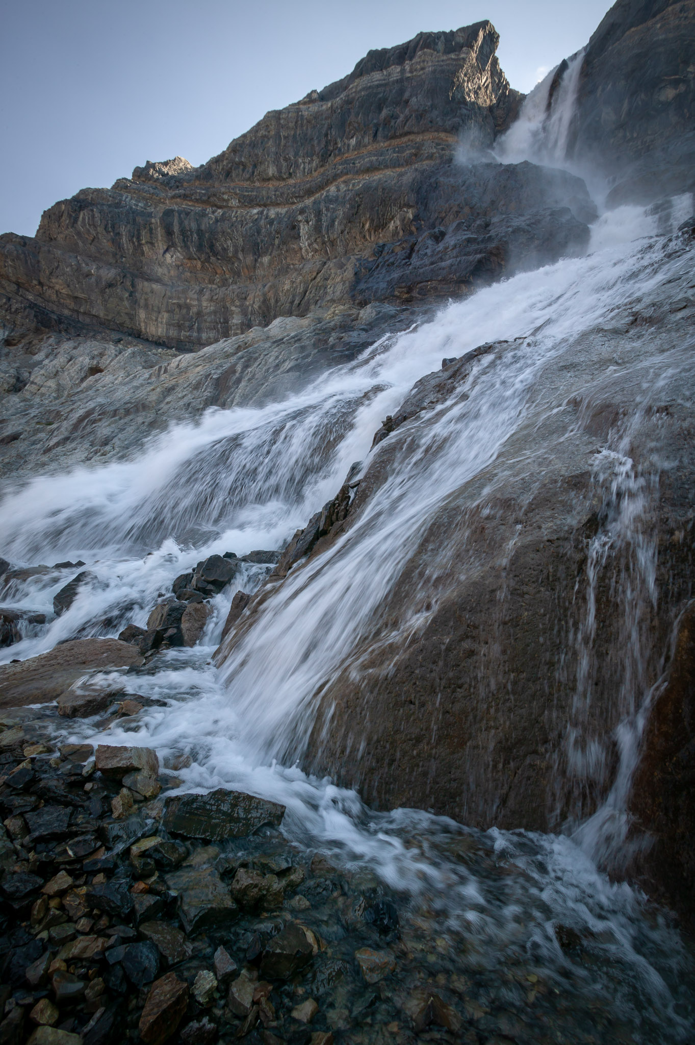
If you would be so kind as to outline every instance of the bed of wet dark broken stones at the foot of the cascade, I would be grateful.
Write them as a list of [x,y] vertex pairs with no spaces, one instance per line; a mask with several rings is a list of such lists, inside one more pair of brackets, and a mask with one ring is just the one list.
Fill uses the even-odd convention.
[[[569,973],[496,957],[431,898],[288,842],[284,807],[170,794],[183,764],[146,748],[56,750],[55,715],[0,722],[2,1045],[637,1040]],[[450,847],[507,874],[471,838]]]

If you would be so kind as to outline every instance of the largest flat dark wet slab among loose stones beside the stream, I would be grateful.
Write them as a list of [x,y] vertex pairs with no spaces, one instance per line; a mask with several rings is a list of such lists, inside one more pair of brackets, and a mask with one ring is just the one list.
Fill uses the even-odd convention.
[[167,802],[164,826],[186,838],[224,841],[243,838],[264,825],[280,827],[285,807],[242,791],[218,788],[208,794],[185,794]]

